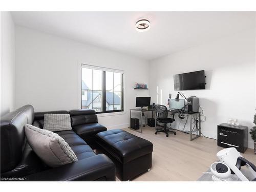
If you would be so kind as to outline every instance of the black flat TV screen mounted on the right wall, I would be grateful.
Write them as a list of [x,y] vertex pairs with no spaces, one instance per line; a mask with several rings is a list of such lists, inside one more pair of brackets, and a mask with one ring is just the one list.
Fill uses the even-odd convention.
[[204,70],[174,75],[174,90],[205,89]]

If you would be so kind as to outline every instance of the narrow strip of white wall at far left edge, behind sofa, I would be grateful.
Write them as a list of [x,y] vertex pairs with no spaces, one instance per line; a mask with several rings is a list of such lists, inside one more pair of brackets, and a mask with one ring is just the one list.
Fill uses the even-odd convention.
[[15,33],[10,12],[1,12],[1,116],[14,110]]

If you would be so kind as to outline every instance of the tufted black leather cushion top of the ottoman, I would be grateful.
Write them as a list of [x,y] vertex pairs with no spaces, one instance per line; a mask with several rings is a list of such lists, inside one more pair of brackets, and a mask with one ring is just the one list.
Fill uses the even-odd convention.
[[127,163],[153,152],[150,141],[117,129],[98,133],[97,143],[121,163]]

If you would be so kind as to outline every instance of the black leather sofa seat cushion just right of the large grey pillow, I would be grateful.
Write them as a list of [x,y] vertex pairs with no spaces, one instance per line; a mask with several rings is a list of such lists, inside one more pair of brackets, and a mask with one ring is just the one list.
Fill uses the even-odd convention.
[[55,133],[69,144],[78,160],[96,155],[92,148],[74,131],[60,131]]

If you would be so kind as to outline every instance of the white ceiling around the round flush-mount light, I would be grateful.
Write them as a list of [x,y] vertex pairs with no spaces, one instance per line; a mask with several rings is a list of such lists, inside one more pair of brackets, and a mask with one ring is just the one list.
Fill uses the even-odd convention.
[[[12,12],[16,25],[151,60],[255,27],[255,12]],[[137,32],[146,18],[151,29]]]

